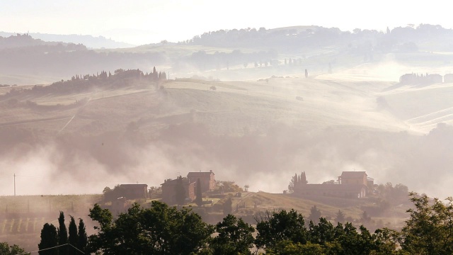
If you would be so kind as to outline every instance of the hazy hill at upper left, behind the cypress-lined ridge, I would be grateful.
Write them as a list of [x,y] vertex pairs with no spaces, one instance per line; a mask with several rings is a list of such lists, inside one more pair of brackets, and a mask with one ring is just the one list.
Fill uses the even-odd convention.
[[[45,42],[31,35],[0,37],[0,84],[17,80],[8,77],[67,77],[87,74],[91,70],[112,71],[121,66],[149,69],[161,63],[157,52],[98,52],[85,45],[65,42]],[[121,64],[120,64],[121,63]],[[4,75],[1,75],[4,74]],[[14,81],[19,85],[30,82]],[[39,81],[38,81],[39,82]],[[37,82],[37,83],[38,83]],[[28,83],[30,84],[30,83]],[[10,84],[11,85],[11,84]]]

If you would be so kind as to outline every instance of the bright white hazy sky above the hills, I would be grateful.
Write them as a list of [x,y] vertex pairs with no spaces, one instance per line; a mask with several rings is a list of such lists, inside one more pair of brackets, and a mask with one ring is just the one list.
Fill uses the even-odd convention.
[[[271,4],[268,4],[271,3]],[[374,4],[375,3],[375,4]],[[147,44],[207,31],[316,25],[385,30],[430,23],[453,27],[447,1],[0,0],[0,30],[103,35]]]

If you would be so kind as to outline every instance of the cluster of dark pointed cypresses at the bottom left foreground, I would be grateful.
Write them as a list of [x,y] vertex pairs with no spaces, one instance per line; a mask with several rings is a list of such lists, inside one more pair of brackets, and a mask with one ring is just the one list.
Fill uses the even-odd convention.
[[38,244],[40,255],[76,255],[90,254],[87,249],[88,237],[84,220],[79,219],[79,227],[74,217],[70,216],[69,229],[64,223],[64,212],[59,212],[58,227],[45,223],[41,230]]

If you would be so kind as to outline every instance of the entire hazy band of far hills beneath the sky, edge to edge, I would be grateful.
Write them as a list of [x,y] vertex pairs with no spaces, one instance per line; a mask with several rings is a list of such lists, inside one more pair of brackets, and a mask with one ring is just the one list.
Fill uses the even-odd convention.
[[[386,31],[356,29],[352,33],[320,26],[218,30],[178,43],[164,40],[140,47],[97,50],[87,49],[93,45],[84,41],[80,41],[84,45],[79,47],[73,43],[45,42],[33,36],[39,38],[40,35],[4,39],[10,42],[4,50],[0,46],[0,84],[11,84],[11,81],[19,85],[30,84],[30,78],[23,81],[16,78],[21,75],[64,78],[91,70],[146,70],[154,66],[166,69],[171,77],[178,78],[261,79],[272,75],[300,75],[304,69],[308,69],[310,75],[331,74],[389,59],[410,66],[406,72],[411,73],[416,66],[448,65],[452,60],[446,53],[453,51],[453,30],[424,24]],[[48,39],[63,41],[60,37]],[[48,45],[52,47],[47,48]],[[42,79],[35,82],[40,83]]]

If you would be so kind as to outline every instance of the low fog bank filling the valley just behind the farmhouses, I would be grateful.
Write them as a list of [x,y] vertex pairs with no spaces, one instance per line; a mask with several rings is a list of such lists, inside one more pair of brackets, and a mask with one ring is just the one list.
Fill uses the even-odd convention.
[[266,135],[231,137],[212,135],[199,123],[171,125],[152,140],[139,130],[69,133],[51,142],[2,146],[0,193],[13,194],[13,174],[18,195],[70,194],[101,193],[105,186],[137,181],[159,186],[188,171],[212,169],[217,180],[273,193],[287,189],[301,171],[309,183],[337,179],[341,171],[367,171],[375,183],[403,183],[446,198],[452,196],[452,140],[453,127],[445,124],[422,136],[277,124]]

